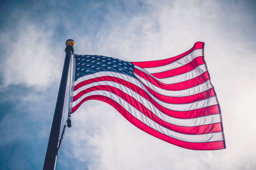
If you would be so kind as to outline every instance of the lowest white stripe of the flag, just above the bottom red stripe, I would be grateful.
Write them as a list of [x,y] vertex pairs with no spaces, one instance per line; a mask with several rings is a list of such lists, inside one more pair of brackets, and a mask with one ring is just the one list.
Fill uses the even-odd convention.
[[[120,98],[119,96],[104,90],[97,90],[86,93],[83,97],[91,96],[91,95],[102,95],[111,98],[112,100],[118,102],[125,110],[127,110],[131,115],[136,117],[138,120],[143,122],[144,124],[148,125],[150,128],[157,130],[158,132],[167,135],[171,138],[175,138],[177,140],[182,140],[185,142],[192,142],[192,143],[204,143],[204,142],[214,142],[223,140],[222,132],[218,133],[207,133],[202,135],[187,135],[183,133],[177,133],[163,126],[159,125],[158,123],[154,122],[150,118],[146,117],[142,112],[138,111],[135,107],[130,105],[128,102]],[[80,100],[82,100],[82,98]],[[74,102],[76,105],[78,101]],[[183,121],[183,120],[182,120]]]

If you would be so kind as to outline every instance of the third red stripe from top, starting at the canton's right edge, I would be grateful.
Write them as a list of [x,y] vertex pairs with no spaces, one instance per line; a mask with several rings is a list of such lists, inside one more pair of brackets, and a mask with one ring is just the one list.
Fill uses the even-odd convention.
[[139,75],[140,77],[144,78],[145,80],[148,80],[149,82],[151,82],[151,84],[153,84],[161,89],[165,89],[165,90],[185,90],[185,89],[200,85],[200,84],[206,82],[207,80],[209,80],[208,72],[204,72],[201,75],[199,75],[195,78],[192,78],[190,80],[168,85],[168,84],[159,82],[155,78],[151,77],[150,75],[148,75],[145,72],[142,72],[141,70],[138,70],[136,68],[134,69],[134,73]]

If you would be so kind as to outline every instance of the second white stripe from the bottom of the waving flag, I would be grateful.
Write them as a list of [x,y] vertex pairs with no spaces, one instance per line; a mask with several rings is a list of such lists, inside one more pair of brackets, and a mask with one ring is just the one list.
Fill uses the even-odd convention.
[[[93,83],[92,83],[93,84]],[[87,87],[81,87],[78,90],[76,90],[77,93],[79,93],[80,91],[87,89],[89,87],[92,86],[96,86],[96,85],[111,85],[113,87],[114,86],[113,83],[111,82],[97,82],[94,85],[89,84]],[[118,84],[118,83],[117,83]],[[178,126],[185,126],[185,127],[192,127],[192,126],[199,126],[199,125],[207,125],[207,124],[212,124],[212,123],[218,123],[220,122],[220,115],[208,115],[208,116],[203,116],[203,117],[196,117],[196,118],[192,118],[192,119],[179,119],[176,117],[172,117],[169,115],[164,114],[163,112],[161,112],[156,106],[154,106],[151,102],[149,102],[148,100],[146,100],[144,97],[142,97],[141,95],[139,95],[138,93],[134,92],[133,90],[129,89],[128,87],[122,86],[122,85],[118,85],[117,87],[118,89],[122,90],[124,93],[130,95],[131,97],[133,97],[135,100],[137,100],[138,102],[140,102],[143,106],[145,106],[148,110],[150,110],[151,112],[153,112],[157,117],[159,117],[161,120],[164,120],[165,122],[168,122],[170,124],[173,125],[178,125]],[[105,90],[95,90],[95,91],[105,91]],[[85,95],[85,94],[84,94]],[[81,97],[79,97],[76,101],[74,101],[74,105],[77,105],[80,101],[82,101],[82,99],[84,98],[84,95],[82,95]],[[214,104],[216,103],[216,99],[215,98],[211,98],[210,100],[212,100],[212,102],[214,102]],[[209,100],[209,101],[210,101]],[[201,102],[201,101],[200,101]],[[167,104],[167,103],[164,103]],[[194,103],[193,103],[194,104]],[[195,103],[196,106],[198,103]],[[200,103],[205,104],[204,103]],[[73,105],[73,106],[74,106]],[[160,104],[161,105],[161,104]],[[176,105],[180,108],[182,108],[183,105]],[[196,107],[195,106],[195,107]],[[164,106],[163,106],[164,107]]]

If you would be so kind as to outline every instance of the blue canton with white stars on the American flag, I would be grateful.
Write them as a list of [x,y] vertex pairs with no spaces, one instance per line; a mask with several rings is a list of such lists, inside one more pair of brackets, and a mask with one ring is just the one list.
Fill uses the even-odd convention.
[[131,77],[133,74],[134,65],[131,62],[119,60],[112,57],[105,57],[102,55],[77,55],[75,54],[76,71],[75,81],[79,77],[93,74],[100,71],[119,72]]

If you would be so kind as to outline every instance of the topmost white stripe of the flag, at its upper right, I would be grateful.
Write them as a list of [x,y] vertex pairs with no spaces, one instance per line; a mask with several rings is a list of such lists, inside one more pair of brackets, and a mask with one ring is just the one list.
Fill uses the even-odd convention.
[[180,58],[179,60],[174,61],[170,64],[159,66],[159,67],[148,67],[148,68],[144,68],[144,69],[147,70],[151,74],[157,73],[157,72],[164,72],[164,71],[172,70],[174,68],[178,68],[183,65],[186,65],[187,63],[194,60],[196,57],[200,57],[200,56],[203,56],[203,49],[194,50],[193,52],[189,53],[188,55],[186,55],[186,56]]

